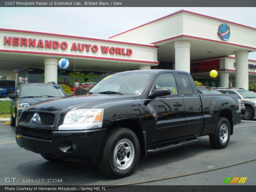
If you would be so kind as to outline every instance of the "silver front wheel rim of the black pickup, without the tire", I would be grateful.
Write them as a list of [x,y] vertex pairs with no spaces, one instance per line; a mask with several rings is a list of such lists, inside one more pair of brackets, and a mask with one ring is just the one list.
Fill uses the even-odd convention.
[[120,140],[114,150],[114,162],[118,169],[130,167],[134,159],[134,146],[129,139]]

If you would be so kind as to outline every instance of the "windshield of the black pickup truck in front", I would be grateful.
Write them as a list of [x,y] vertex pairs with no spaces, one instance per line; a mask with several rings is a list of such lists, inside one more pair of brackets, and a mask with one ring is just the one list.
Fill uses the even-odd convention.
[[153,73],[126,72],[117,73],[102,79],[98,84],[90,89],[89,93],[139,95],[143,92],[153,76]]

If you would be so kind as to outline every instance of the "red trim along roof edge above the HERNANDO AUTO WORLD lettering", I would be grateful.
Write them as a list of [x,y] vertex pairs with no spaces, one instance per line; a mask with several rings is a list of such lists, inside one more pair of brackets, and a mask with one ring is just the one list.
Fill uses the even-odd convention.
[[136,46],[142,46],[142,47],[158,48],[158,46],[155,46],[155,45],[127,43],[127,42],[122,42],[122,41],[113,41],[113,40],[106,40],[106,39],[80,37],[80,36],[72,36],[72,35],[62,35],[62,34],[45,33],[45,32],[37,32],[37,31],[27,31],[27,30],[18,30],[18,29],[4,29],[4,28],[0,28],[0,31],[16,32],[16,33],[29,33],[29,34],[36,34],[36,35],[48,35],[48,36],[58,36],[58,37],[68,37],[68,38],[76,38],[76,39],[84,39],[84,40],[92,40],[92,41],[102,41],[102,42],[108,42],[108,43],[118,43],[118,44],[128,44],[128,45],[136,45]]

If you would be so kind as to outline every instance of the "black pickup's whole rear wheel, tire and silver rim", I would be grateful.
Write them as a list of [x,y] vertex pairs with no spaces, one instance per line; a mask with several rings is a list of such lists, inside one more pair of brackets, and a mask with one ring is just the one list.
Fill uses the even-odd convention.
[[230,139],[230,124],[225,117],[219,117],[213,134],[209,135],[213,148],[222,149],[228,145]]

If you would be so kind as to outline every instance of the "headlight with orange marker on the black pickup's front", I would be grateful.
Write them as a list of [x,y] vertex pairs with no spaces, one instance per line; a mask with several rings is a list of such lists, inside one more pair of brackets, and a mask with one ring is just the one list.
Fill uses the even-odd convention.
[[59,130],[101,128],[104,109],[75,109],[69,111]]

